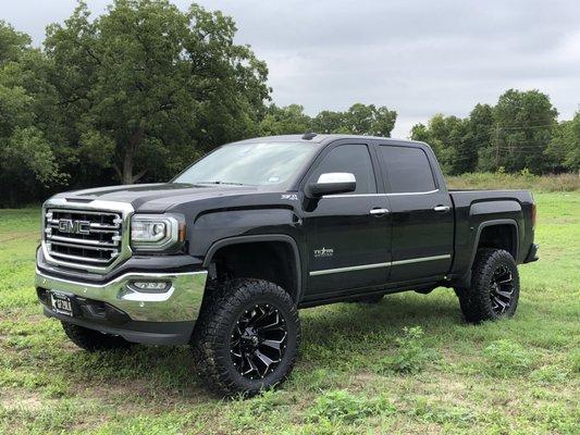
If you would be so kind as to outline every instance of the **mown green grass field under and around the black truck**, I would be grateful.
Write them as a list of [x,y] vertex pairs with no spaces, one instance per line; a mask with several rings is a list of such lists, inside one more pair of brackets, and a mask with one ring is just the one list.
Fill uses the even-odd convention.
[[186,347],[75,348],[36,302],[39,211],[0,210],[0,433],[579,434],[580,192],[535,198],[513,320],[466,325],[443,288],[304,310],[292,377],[249,400],[205,393]]

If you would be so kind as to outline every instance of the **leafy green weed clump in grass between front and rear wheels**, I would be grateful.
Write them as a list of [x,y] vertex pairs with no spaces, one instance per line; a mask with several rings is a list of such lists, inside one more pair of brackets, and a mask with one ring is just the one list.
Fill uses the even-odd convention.
[[379,371],[382,373],[418,373],[425,364],[437,359],[436,352],[427,347],[421,326],[404,327],[403,337],[397,337],[395,341],[396,353],[379,361]]

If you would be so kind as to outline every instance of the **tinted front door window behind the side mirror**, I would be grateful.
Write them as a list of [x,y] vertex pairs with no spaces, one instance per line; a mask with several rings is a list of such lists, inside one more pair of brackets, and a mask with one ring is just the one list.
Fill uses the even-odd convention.
[[310,176],[316,183],[320,174],[329,172],[349,172],[357,179],[353,194],[377,194],[377,183],[371,158],[366,145],[342,145],[330,151]]

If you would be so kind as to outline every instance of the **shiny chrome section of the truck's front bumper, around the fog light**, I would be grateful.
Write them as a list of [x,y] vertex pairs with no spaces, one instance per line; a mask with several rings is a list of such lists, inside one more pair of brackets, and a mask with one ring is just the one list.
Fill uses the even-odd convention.
[[[73,294],[107,302],[125,312],[133,321],[195,321],[201,308],[207,271],[185,273],[127,273],[104,284],[63,279],[36,270],[37,288]],[[162,293],[138,291],[131,283],[162,281],[171,283]]]

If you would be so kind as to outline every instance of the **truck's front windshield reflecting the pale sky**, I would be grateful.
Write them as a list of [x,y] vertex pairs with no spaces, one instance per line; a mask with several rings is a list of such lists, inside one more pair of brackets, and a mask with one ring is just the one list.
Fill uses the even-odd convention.
[[304,142],[225,145],[185,170],[173,183],[287,188],[317,149],[314,144]]

